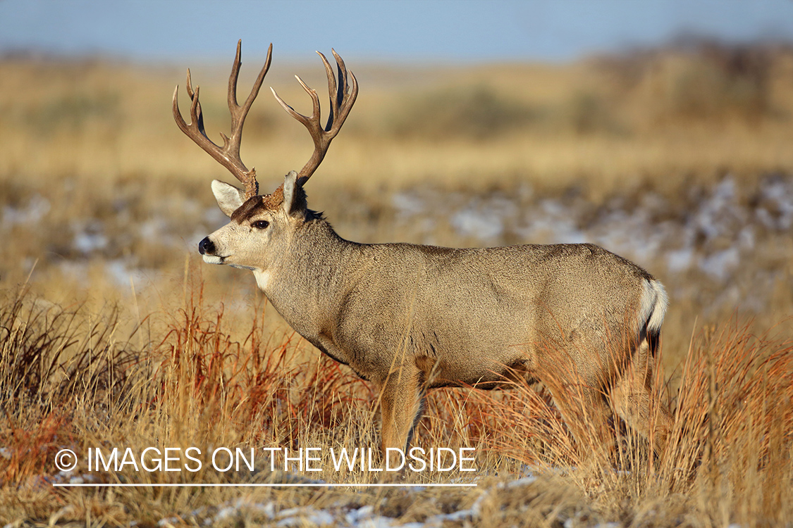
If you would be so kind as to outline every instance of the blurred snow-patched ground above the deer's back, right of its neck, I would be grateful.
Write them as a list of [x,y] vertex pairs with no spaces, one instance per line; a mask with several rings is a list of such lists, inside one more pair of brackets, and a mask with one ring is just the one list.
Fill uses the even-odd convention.
[[693,272],[727,285],[760,249],[783,249],[775,237],[789,236],[793,227],[793,178],[769,175],[756,188],[741,189],[727,176],[680,200],[648,191],[600,207],[575,192],[536,197],[519,188],[471,196],[425,187],[397,193],[391,205],[398,226],[427,244],[443,243],[437,239],[443,225],[471,245],[591,242],[654,273]]

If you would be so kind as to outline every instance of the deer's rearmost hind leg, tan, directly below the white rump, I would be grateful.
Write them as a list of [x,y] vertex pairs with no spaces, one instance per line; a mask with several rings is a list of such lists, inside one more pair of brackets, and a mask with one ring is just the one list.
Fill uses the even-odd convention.
[[644,339],[634,352],[633,360],[611,387],[609,397],[617,415],[649,441],[655,454],[661,455],[672,429],[672,415],[653,390],[653,363],[649,343]]

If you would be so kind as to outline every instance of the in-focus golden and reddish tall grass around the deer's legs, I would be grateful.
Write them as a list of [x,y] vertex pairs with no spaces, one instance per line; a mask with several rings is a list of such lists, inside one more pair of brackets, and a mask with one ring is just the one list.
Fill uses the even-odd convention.
[[[276,512],[310,507],[338,513],[370,505],[400,522],[477,503],[475,512],[445,526],[463,526],[465,519],[480,526],[565,519],[587,526],[784,526],[793,515],[793,344],[753,336],[736,321],[692,340],[672,394],[670,446],[658,460],[619,422],[614,424],[618,457],[593,456],[569,434],[547,397],[531,389],[439,389],[431,392],[415,444],[473,446],[475,489],[439,494],[382,488],[53,488],[52,481],[62,480],[53,457],[64,447],[82,458],[76,474],[90,474],[93,482],[377,481],[377,473],[335,472],[328,458],[331,447],[377,443],[370,386],[294,334],[265,332],[256,307],[245,316],[249,330],[233,332],[224,308],[210,307],[202,297],[199,280],[186,288],[186,304],[147,317],[158,320],[159,328],[142,348],[134,336],[118,335],[112,313],[78,325],[88,316],[79,306],[62,308],[24,292],[4,292],[0,444],[9,462],[0,475],[4,521],[126,526],[134,520],[153,526],[172,519],[192,525],[217,519],[224,507],[238,504],[228,522],[258,523],[267,520],[260,511],[266,503]],[[578,420],[584,430],[594,430],[585,409]],[[255,472],[204,467],[166,473],[129,466],[87,471],[89,448],[113,446],[136,453],[147,446],[197,446],[202,453],[217,446],[317,446],[322,471],[270,473],[266,462]],[[522,464],[538,480],[506,484],[525,472]],[[416,484],[471,477],[457,471],[404,476]],[[247,507],[239,507],[240,493]]]

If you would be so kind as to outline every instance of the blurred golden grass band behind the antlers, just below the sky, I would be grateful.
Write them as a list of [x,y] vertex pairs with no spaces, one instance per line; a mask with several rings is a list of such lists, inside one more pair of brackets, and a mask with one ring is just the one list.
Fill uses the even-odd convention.
[[[789,171],[790,55],[774,56],[763,77],[764,107],[750,116],[740,113],[742,100],[737,97],[707,115],[690,115],[679,101],[686,101],[681,93],[689,92],[677,86],[703,69],[700,62],[663,57],[634,74],[638,79],[598,62],[441,68],[418,86],[378,82],[381,70],[362,66],[356,110],[331,149],[322,177],[312,184],[400,187],[432,177],[442,184],[475,178],[488,185],[520,177],[552,188],[584,183],[607,194],[626,179],[680,182],[722,170]],[[208,130],[216,137],[228,120],[222,70],[192,66],[193,78],[203,88]],[[6,177],[72,176],[102,186],[129,177],[182,180],[187,174],[205,181],[219,173],[213,161],[184,139],[170,116],[170,94],[174,85],[183,84],[181,68],[10,59],[0,67],[0,173]],[[321,69],[276,61],[268,79],[282,97],[305,111],[308,97],[296,82],[287,81],[287,68],[316,86],[323,85]],[[411,73],[397,70],[392,78]],[[725,79],[726,74],[718,73],[696,97],[713,98],[714,90],[740,85],[741,77]],[[246,81],[244,77],[240,82],[241,91]],[[182,93],[183,106],[185,97]],[[522,108],[530,117],[513,122],[511,113]],[[484,120],[502,109],[504,117],[492,123],[466,117],[480,112]],[[581,128],[581,122],[590,121]],[[612,122],[619,123],[616,130],[610,128]],[[437,123],[443,127],[436,128]],[[262,180],[277,181],[302,165],[310,149],[305,131],[262,94],[247,123],[243,159],[259,167]]]

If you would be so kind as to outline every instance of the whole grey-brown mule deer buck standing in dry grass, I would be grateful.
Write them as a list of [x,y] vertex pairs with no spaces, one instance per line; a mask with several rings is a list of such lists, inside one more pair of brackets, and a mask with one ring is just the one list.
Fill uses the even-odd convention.
[[[609,406],[661,452],[671,424],[651,391],[654,355],[667,305],[664,287],[636,264],[596,245],[514,245],[450,249],[344,240],[303,190],[358,96],[358,82],[333,52],[338,82],[324,55],[330,116],[320,124],[316,92],[303,116],[314,152],[299,173],[259,195],[255,170],[239,158],[248,110],[270,66],[272,44],[240,106],[240,44],[228,80],[232,135],[206,135],[190,70],[190,123],[178,127],[243,183],[212,183],[228,225],[198,245],[205,262],[249,269],[278,313],[301,336],[379,389],[381,448],[406,449],[427,389],[543,382],[579,441],[607,431]],[[567,361],[571,368],[561,366]],[[653,418],[653,414],[657,415]],[[579,424],[579,425],[577,425]]]

